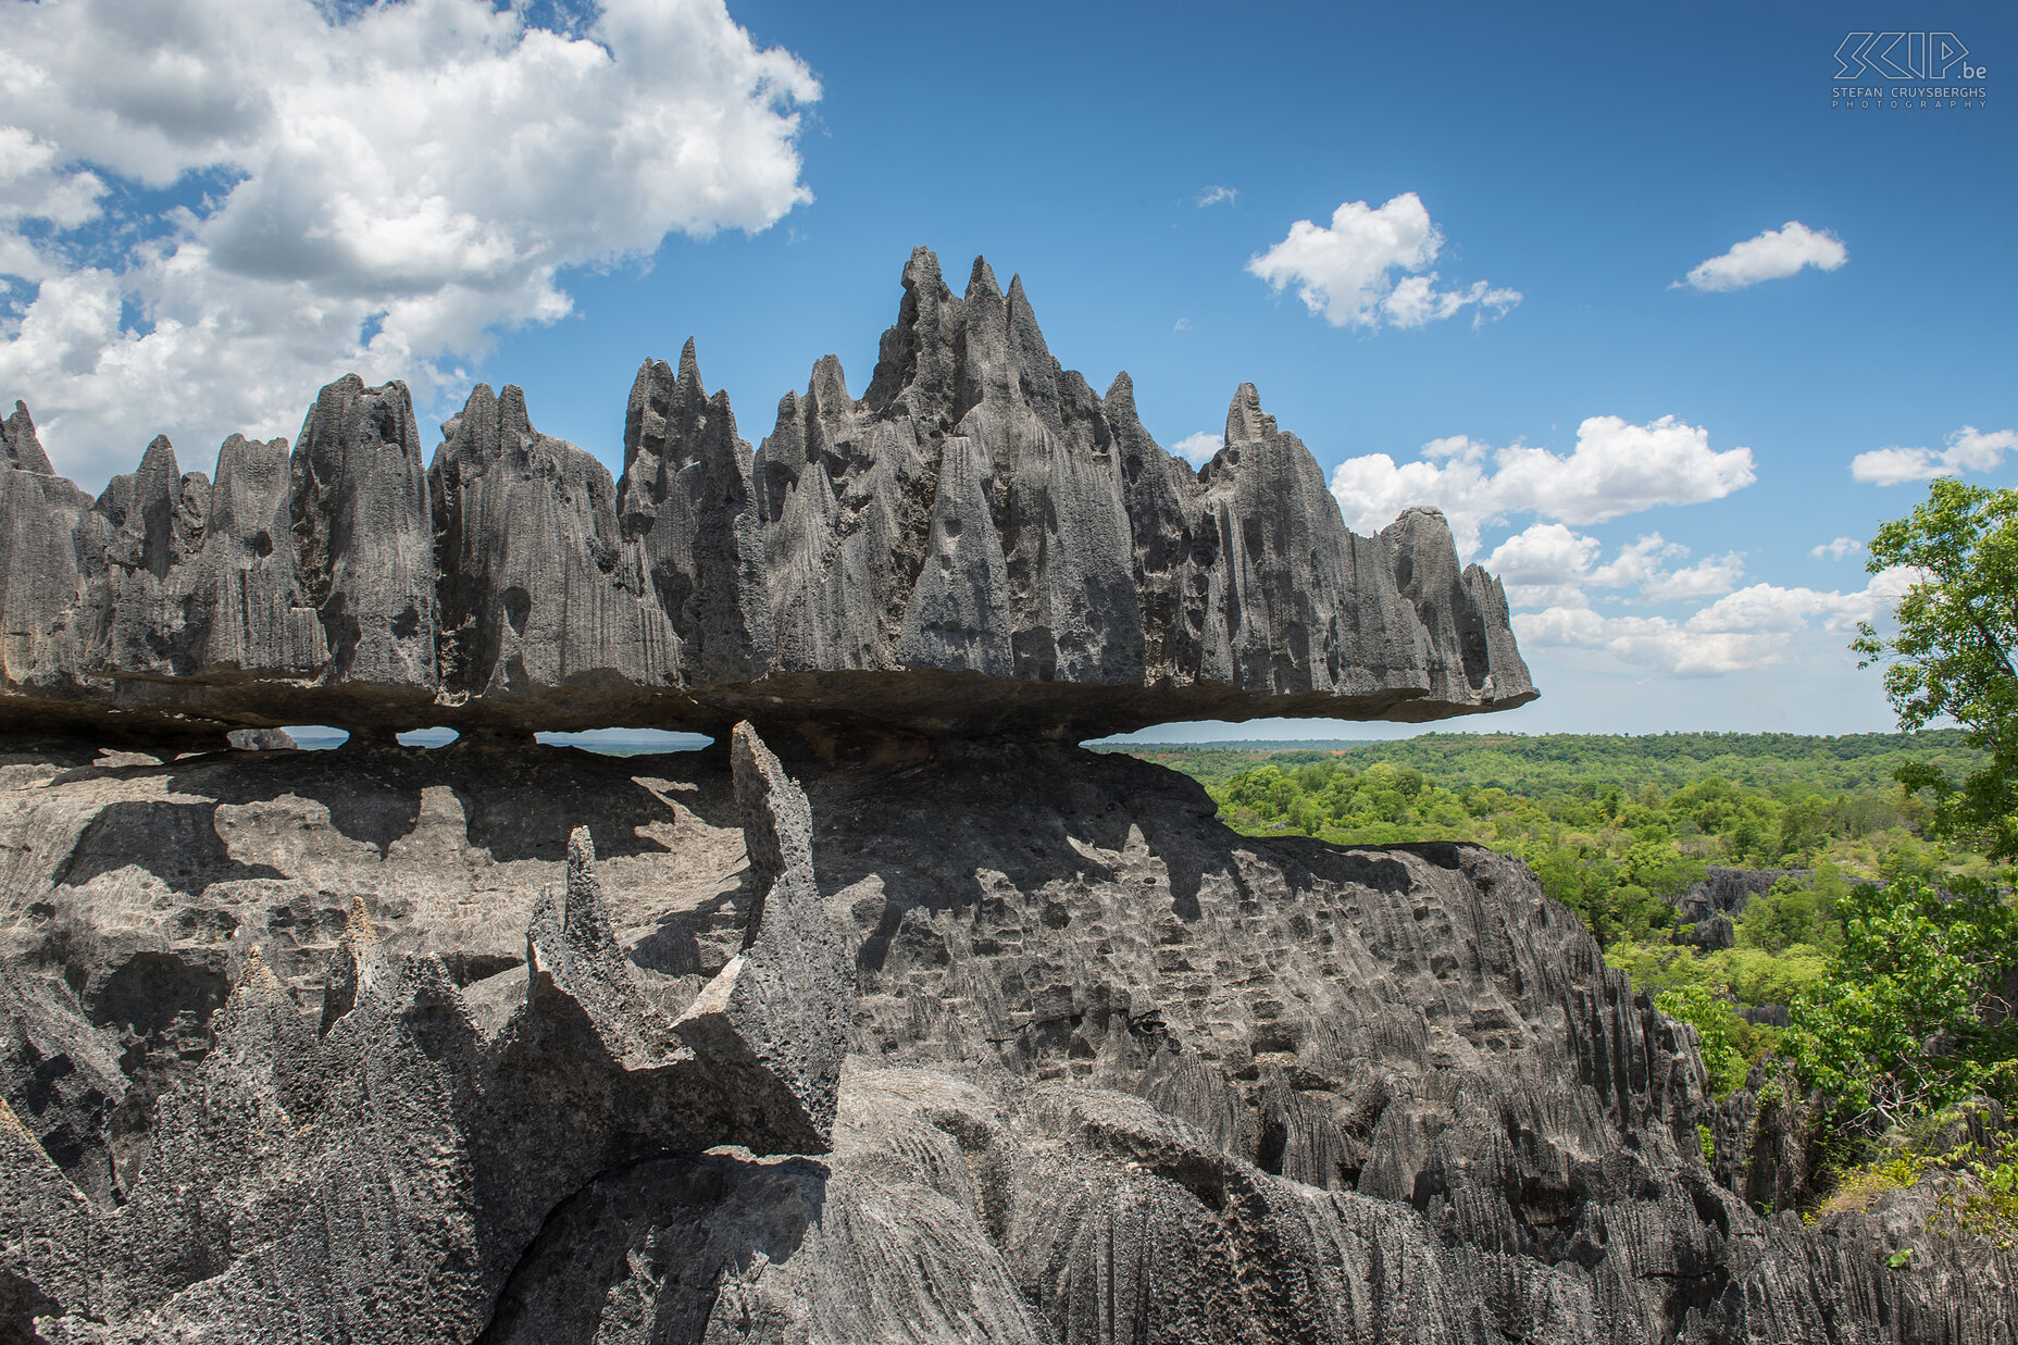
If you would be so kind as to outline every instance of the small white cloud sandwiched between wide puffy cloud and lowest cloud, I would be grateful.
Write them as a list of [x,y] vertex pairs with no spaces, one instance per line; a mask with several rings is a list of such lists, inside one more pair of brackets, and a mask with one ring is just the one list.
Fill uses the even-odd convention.
[[1600,588],[1637,590],[1641,602],[1711,598],[1733,590],[1746,572],[1735,553],[1663,567],[1663,561],[1685,557],[1689,547],[1661,533],[1620,547],[1606,565],[1596,563],[1602,549],[1596,537],[1562,523],[1534,523],[1501,541],[1483,565],[1505,582],[1507,600],[1518,608],[1586,606],[1586,594]]

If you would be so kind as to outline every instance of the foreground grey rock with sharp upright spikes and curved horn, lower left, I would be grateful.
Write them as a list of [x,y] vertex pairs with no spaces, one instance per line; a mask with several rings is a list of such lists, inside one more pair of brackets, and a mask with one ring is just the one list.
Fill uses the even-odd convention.
[[[827,1149],[852,986],[809,870],[805,796],[745,739],[747,844],[783,862],[747,913],[763,975],[731,961],[702,986],[696,1004],[728,1004],[706,1032],[640,986],[587,828],[569,836],[563,887],[533,907],[523,965],[476,981],[412,941],[389,947],[353,897],[319,1014],[276,973],[289,959],[246,945],[204,1050],[170,1070],[143,1155],[111,1189],[65,1171],[97,1171],[65,1143],[75,1115],[8,1076],[0,1339],[472,1341],[549,1216],[636,1161],[728,1141]],[[783,850],[779,818],[797,834]],[[464,977],[480,967],[464,961]],[[57,1018],[38,1040],[73,1058],[103,1040],[81,1014]]]

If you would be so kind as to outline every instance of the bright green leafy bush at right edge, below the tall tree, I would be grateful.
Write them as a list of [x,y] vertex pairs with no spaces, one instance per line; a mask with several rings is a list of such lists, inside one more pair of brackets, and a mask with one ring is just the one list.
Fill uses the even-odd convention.
[[2018,1022],[1998,998],[2018,965],[2018,913],[1984,883],[1917,878],[1836,903],[1842,947],[1794,1004],[1786,1046],[1804,1082],[1867,1133],[1976,1095],[2018,1095]]

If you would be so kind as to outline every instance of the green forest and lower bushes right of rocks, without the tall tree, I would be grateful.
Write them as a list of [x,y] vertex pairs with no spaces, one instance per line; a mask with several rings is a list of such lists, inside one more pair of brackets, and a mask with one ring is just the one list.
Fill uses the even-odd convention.
[[[1976,1060],[1919,1050],[1927,1036],[1976,1030],[1986,971],[2018,951],[1996,846],[1941,826],[1929,784],[1990,769],[1992,753],[1961,729],[1104,749],[1199,780],[1243,834],[1342,846],[1463,840],[1528,862],[1612,967],[1695,1026],[1715,1097],[1748,1078],[1810,1093],[1806,1139],[1820,1155],[1810,1212],[1953,1157],[1929,1151],[1943,1109],[2010,1091],[2014,1050],[1996,1032]],[[1705,947],[1677,901],[1711,866],[1794,872],[1744,905],[1725,947]],[[1964,927],[1955,915],[1972,895]],[[1901,949],[1915,965],[1895,965]],[[1881,1022],[1844,1024],[1842,1004]],[[1744,1010],[1764,1006],[1788,1008],[1794,1026],[1748,1022]],[[1986,1173],[2014,1185],[2018,1165]],[[2018,1218],[2018,1194],[2006,1196],[2004,1214]]]

